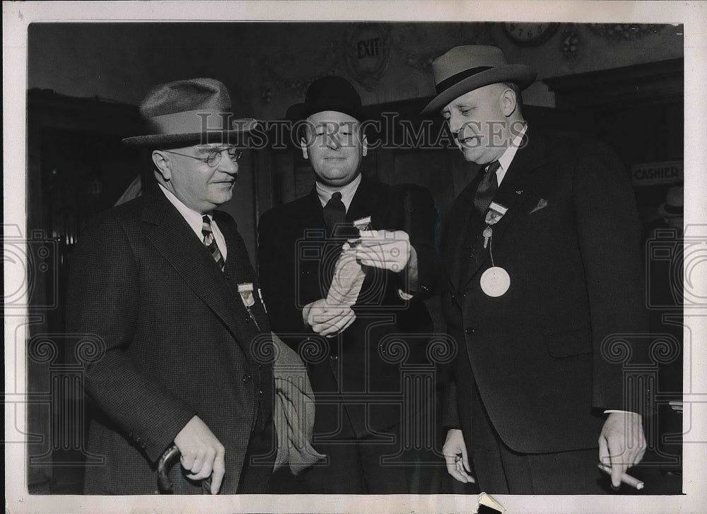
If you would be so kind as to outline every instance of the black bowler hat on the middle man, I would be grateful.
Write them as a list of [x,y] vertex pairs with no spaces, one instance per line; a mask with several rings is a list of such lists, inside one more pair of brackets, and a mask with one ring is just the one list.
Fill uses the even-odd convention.
[[286,119],[299,122],[317,112],[336,111],[361,120],[361,96],[351,83],[339,76],[317,78],[307,88],[305,101],[291,105]]

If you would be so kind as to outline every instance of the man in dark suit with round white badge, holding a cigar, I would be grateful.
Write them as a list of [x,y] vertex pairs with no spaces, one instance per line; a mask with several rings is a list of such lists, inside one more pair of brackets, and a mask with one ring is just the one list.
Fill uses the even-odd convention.
[[452,48],[433,72],[423,112],[441,112],[481,166],[443,241],[443,311],[460,347],[448,471],[470,481],[471,456],[490,493],[598,493],[600,460],[619,486],[645,449],[621,366],[624,341],[647,332],[626,173],[598,141],[527,124],[520,90],[534,71],[500,49]]

